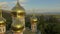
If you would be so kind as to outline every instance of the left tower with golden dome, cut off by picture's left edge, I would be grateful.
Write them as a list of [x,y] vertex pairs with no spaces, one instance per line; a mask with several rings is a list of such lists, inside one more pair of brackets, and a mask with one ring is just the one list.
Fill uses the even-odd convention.
[[2,17],[2,7],[0,6],[0,34],[6,33],[6,20]]

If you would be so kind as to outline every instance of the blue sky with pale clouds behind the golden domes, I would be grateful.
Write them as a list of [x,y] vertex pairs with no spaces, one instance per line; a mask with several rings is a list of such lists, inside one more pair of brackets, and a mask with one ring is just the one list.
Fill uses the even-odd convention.
[[[10,10],[16,5],[17,0],[0,0],[3,9]],[[60,12],[60,0],[19,0],[25,10],[32,12]]]

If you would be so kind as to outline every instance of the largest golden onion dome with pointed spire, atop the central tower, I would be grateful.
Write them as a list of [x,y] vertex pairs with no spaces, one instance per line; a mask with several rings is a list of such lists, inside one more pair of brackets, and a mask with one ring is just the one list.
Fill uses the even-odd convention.
[[17,4],[15,7],[12,8],[12,15],[13,16],[23,16],[25,15],[25,9],[19,4],[19,1],[17,1]]

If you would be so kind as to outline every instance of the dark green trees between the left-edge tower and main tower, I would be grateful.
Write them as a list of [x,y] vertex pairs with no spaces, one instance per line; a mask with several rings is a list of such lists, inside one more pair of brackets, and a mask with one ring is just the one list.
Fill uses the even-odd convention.
[[3,12],[3,17],[6,19],[6,29],[9,30],[12,23],[12,18],[10,13]]

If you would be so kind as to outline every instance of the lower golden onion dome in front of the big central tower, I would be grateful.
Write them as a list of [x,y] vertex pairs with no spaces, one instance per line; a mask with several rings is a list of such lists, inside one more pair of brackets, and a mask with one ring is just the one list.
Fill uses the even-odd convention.
[[12,23],[11,29],[13,32],[22,32],[24,29],[24,26],[21,21],[16,19],[16,21],[14,23]]

